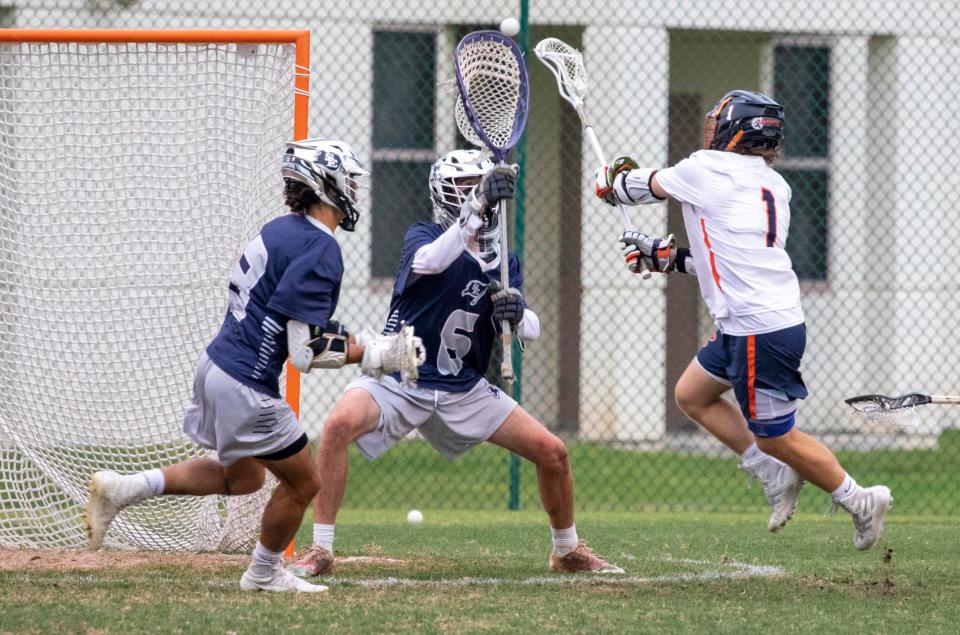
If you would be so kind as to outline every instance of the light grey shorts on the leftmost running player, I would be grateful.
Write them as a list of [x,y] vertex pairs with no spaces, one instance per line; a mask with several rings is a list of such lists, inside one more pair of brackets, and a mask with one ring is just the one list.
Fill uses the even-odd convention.
[[183,431],[200,447],[216,450],[222,465],[282,452],[304,434],[287,402],[240,383],[206,352],[197,363]]

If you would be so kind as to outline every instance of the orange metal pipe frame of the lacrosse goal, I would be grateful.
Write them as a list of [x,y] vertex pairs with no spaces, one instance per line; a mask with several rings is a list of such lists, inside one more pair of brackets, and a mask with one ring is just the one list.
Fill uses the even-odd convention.
[[[86,42],[152,44],[293,44],[295,49],[293,139],[307,138],[310,95],[310,31],[216,29],[0,29],[0,42]],[[300,373],[287,363],[284,394],[300,418]],[[294,541],[284,550],[293,558]]]

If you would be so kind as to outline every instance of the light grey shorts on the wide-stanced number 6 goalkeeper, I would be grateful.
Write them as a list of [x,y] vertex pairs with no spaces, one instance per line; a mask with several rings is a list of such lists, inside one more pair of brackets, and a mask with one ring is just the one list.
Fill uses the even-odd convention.
[[[440,454],[454,459],[497,431],[517,402],[486,379],[467,392],[408,388],[393,377],[377,381],[361,375],[346,388],[365,390],[380,406],[377,429],[357,439],[357,447],[375,459],[411,430],[418,430]],[[346,392],[345,391],[345,392]]]

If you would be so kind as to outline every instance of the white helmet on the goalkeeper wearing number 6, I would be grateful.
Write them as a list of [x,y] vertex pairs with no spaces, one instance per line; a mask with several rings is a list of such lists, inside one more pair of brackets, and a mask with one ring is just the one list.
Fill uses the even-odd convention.
[[[444,229],[460,218],[460,208],[483,175],[494,168],[493,161],[479,150],[451,150],[430,168],[430,198],[433,219]],[[481,251],[494,251],[500,241],[497,214],[486,214],[477,235]]]

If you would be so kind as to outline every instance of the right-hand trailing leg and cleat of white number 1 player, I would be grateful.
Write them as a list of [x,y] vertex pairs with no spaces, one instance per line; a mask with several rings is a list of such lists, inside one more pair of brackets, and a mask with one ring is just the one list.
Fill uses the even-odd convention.
[[834,509],[843,507],[853,517],[853,544],[869,549],[883,531],[883,517],[893,497],[883,485],[861,487],[847,474],[833,452],[809,434],[793,429],[779,437],[757,437],[764,452],[788,463],[803,478],[833,498]]

